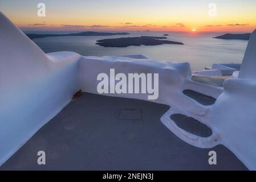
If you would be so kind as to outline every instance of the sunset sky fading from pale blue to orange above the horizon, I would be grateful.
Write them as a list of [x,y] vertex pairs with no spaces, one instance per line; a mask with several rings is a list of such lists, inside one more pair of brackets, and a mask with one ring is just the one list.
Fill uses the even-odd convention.
[[[46,16],[37,16],[38,3]],[[216,4],[216,15],[209,14]],[[256,28],[256,0],[0,0],[0,11],[22,30],[222,31]]]

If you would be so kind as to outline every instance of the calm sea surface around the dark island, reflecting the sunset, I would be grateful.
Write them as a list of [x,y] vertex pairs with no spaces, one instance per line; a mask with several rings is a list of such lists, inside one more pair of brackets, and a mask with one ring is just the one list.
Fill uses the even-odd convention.
[[[26,32],[45,34],[46,32]],[[48,34],[70,32],[47,32]],[[187,61],[192,71],[198,71],[213,63],[241,63],[247,40],[221,40],[212,37],[219,33],[181,33],[181,32],[129,32],[129,35],[115,36],[60,36],[33,39],[44,52],[74,51],[84,56],[114,56],[143,54],[160,61]],[[162,36],[169,34],[167,40],[184,43],[183,46],[164,44],[161,46],[130,46],[126,48],[109,48],[96,45],[96,40],[133,36]]]

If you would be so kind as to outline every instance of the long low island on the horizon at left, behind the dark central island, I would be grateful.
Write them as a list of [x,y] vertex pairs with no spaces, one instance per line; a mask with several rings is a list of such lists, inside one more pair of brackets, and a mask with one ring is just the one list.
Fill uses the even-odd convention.
[[46,38],[48,36],[109,36],[109,35],[128,35],[129,33],[127,32],[116,32],[116,33],[111,33],[111,32],[79,32],[79,33],[74,33],[74,34],[26,34],[30,39],[35,39],[35,38]]

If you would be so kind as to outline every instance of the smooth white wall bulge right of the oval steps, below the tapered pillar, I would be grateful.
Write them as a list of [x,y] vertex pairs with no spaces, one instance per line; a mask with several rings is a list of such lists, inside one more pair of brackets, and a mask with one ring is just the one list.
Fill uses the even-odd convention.
[[210,109],[209,124],[249,168],[256,169],[256,80],[230,78]]

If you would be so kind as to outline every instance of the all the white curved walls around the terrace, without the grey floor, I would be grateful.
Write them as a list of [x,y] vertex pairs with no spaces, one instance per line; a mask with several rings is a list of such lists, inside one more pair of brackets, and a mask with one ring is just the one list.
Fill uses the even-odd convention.
[[[218,88],[192,81],[189,63],[142,55],[46,54],[2,13],[0,24],[0,165],[58,114],[78,90],[98,94],[97,75],[114,68],[125,74],[159,73],[159,97],[152,101],[171,106],[161,117],[170,132],[197,147],[224,144],[247,168],[256,169],[256,31],[251,34],[238,77],[225,80],[224,88]],[[185,89],[217,101],[201,105],[185,96]],[[148,100],[148,94],[107,96]],[[205,123],[213,134],[202,138],[182,130],[170,119],[173,113]]]

